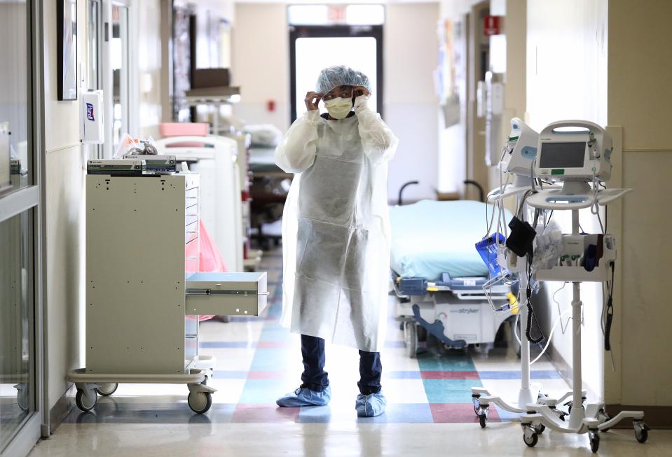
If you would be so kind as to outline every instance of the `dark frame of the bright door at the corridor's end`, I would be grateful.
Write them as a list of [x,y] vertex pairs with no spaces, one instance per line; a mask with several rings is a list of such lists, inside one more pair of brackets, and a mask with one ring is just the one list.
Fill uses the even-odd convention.
[[376,38],[376,102],[383,116],[383,25],[292,25],[289,26],[289,119],[296,120],[296,40],[298,38]]

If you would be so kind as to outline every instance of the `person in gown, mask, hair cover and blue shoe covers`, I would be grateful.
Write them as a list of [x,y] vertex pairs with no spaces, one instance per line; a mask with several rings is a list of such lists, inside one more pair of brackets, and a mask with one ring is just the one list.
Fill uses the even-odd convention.
[[378,351],[390,277],[388,161],[399,141],[366,105],[370,96],[363,73],[322,70],[275,150],[277,165],[295,174],[282,218],[282,322],[301,334],[304,367],[301,386],[277,400],[283,407],[327,405],[329,340],[359,349],[357,414],[385,411]]

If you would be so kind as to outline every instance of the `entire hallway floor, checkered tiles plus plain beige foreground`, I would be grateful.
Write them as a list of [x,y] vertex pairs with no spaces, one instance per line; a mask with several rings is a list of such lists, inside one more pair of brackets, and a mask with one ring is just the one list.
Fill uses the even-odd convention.
[[[439,353],[430,346],[411,359],[406,355],[403,332],[393,320],[393,297],[388,337],[381,351],[383,393],[388,398],[385,414],[357,418],[358,355],[355,349],[341,346],[327,346],[333,393],[329,406],[278,408],[275,399],[300,384],[301,350],[298,335],[279,324],[280,252],[266,253],[261,269],[268,271],[270,291],[263,316],[200,325],[200,353],[217,358],[214,378],[208,383],[217,388],[210,412],[191,412],[184,385],[121,385],[111,397],[99,398],[92,412],[73,409],[55,435],[41,442],[32,455],[495,456],[551,449],[554,456],[589,453],[585,436],[548,433],[534,450],[528,449],[519,426],[512,423],[514,417],[497,410],[491,412],[488,428],[481,430],[470,388],[485,386],[505,397],[507,392],[517,395],[518,358],[507,348]],[[568,390],[544,359],[533,368],[533,378],[544,392]],[[610,435],[614,435],[611,444],[603,440],[605,451],[609,446],[622,446],[632,454],[605,455],[646,455],[642,453],[654,449],[650,444],[638,445],[631,430]],[[664,435],[664,440],[670,444],[672,434]],[[564,451],[558,453],[558,449]]]

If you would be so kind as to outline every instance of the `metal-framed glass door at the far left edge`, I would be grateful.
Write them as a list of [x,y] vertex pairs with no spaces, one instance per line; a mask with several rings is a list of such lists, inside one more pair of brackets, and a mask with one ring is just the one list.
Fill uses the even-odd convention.
[[0,1],[0,456],[40,435],[39,1]]

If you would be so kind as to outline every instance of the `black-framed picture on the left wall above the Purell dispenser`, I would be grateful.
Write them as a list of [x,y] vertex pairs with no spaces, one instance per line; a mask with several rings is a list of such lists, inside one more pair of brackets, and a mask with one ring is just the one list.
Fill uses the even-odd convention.
[[58,99],[77,99],[77,0],[56,1]]

